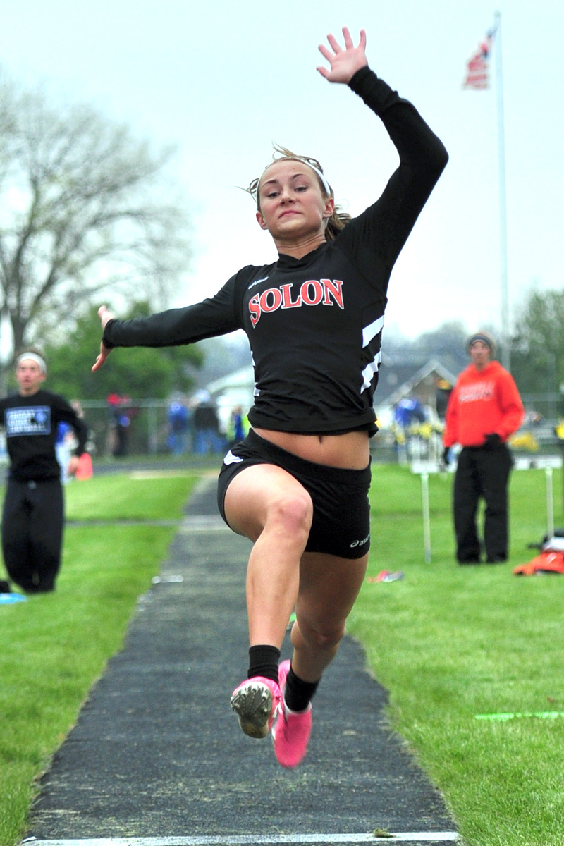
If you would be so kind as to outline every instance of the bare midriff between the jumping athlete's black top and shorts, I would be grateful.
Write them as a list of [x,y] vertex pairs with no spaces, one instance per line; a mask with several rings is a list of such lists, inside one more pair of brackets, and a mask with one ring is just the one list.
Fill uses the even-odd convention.
[[364,470],[370,460],[367,431],[348,431],[344,435],[298,435],[272,429],[255,429],[255,432],[287,453],[327,467]]

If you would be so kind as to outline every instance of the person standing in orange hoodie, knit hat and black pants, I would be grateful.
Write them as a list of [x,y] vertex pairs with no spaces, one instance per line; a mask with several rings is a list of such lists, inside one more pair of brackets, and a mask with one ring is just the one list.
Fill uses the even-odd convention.
[[507,482],[512,456],[507,438],[523,422],[523,403],[511,373],[498,361],[496,343],[487,332],[468,338],[468,365],[452,389],[446,408],[443,458],[454,443],[462,446],[454,479],[454,529],[457,561],[480,561],[476,512],[485,499],[486,563],[507,560]]

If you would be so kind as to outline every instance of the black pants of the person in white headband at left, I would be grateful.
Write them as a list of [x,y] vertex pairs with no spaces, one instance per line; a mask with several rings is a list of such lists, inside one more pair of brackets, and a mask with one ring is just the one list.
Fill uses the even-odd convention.
[[62,541],[61,482],[10,479],[2,516],[2,552],[10,579],[26,593],[53,591]]

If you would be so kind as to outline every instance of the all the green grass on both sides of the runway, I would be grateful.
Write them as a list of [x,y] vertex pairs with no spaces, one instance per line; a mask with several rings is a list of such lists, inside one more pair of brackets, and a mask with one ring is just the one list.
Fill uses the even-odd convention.
[[[122,645],[136,599],[166,557],[173,527],[115,521],[179,517],[193,481],[156,473],[68,486],[69,519],[115,525],[68,527],[57,593],[0,607],[2,846],[24,832],[36,777]],[[452,476],[429,481],[425,563],[419,477],[375,466],[369,575],[402,569],[405,578],[366,581],[348,632],[363,643],[390,693],[392,726],[446,797],[466,846],[561,846],[564,718],[476,719],[564,711],[564,578],[512,575],[535,554],[528,544],[545,534],[545,472],[512,474],[512,558],[496,566],[457,566]],[[560,471],[554,487],[559,526]]]

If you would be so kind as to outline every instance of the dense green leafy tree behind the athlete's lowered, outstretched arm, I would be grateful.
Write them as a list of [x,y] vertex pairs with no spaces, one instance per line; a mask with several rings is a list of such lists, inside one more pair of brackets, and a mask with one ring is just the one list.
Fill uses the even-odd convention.
[[[141,302],[125,318],[149,313],[149,303]],[[120,393],[135,399],[161,399],[172,391],[188,391],[194,383],[189,370],[200,367],[203,360],[197,344],[114,349],[101,370],[92,373],[100,340],[100,318],[97,307],[92,305],[76,321],[76,328],[66,343],[46,347],[47,387],[68,398],[105,399],[110,393]]]

